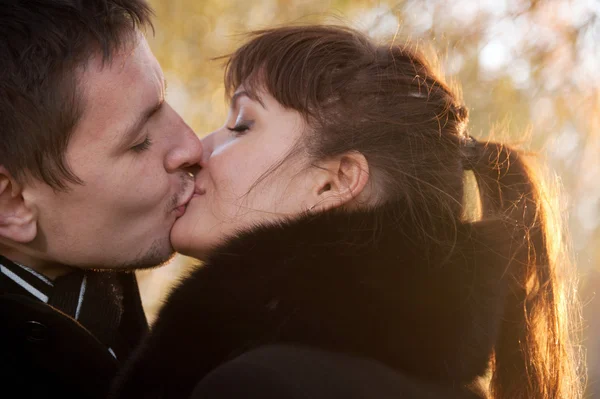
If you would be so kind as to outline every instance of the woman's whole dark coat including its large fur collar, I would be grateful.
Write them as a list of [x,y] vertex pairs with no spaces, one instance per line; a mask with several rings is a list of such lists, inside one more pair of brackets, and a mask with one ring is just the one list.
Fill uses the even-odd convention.
[[398,209],[230,240],[174,290],[111,397],[485,397],[508,291],[497,226],[424,236]]

